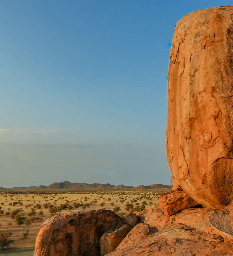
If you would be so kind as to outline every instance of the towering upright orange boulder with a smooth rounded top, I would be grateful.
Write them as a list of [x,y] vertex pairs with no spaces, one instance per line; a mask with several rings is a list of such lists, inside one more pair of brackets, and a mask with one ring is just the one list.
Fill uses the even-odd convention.
[[166,154],[173,189],[212,209],[233,199],[233,6],[176,24],[167,87]]

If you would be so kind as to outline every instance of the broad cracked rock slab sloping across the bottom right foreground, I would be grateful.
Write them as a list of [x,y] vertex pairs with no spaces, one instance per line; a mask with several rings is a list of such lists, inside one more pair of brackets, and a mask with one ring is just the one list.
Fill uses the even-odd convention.
[[187,225],[176,223],[161,229],[150,237],[108,256],[215,256],[233,255],[233,245],[221,236],[197,231]]

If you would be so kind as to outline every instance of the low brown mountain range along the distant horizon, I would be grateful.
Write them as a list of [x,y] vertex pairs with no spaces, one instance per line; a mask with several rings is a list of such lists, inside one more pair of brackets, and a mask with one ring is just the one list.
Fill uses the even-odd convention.
[[144,186],[144,185],[139,185],[137,187],[133,186],[124,186],[123,184],[121,185],[110,185],[109,183],[106,184],[101,184],[101,183],[92,183],[92,184],[87,184],[87,183],[76,183],[76,182],[69,182],[69,181],[63,181],[63,182],[54,182],[50,184],[49,186],[30,186],[30,187],[14,187],[14,188],[3,188],[0,187],[0,189],[16,189],[16,190],[41,190],[41,189],[171,189],[172,186],[169,185],[163,185],[163,184],[153,184],[150,186]]

